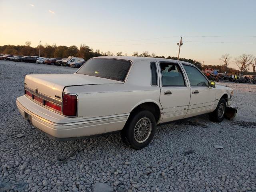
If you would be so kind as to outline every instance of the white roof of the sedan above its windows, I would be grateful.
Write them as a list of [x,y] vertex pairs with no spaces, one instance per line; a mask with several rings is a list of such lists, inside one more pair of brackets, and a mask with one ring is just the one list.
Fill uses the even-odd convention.
[[[174,59],[163,59],[163,58],[155,58],[155,57],[135,57],[135,56],[100,56],[100,57],[94,57],[94,58],[123,59],[123,60],[130,60],[133,63],[138,62],[138,61],[144,61],[144,60],[157,61],[157,62],[160,62],[160,61],[162,61],[162,62],[178,62],[178,60],[174,60]],[[193,65],[193,64],[185,62],[185,61],[182,61],[182,63]]]

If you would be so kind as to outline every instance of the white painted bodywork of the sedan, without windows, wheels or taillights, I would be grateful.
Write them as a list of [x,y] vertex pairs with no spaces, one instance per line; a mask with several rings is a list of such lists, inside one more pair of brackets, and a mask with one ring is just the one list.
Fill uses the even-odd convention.
[[[124,82],[83,74],[35,74],[25,77],[25,86],[38,90],[62,102],[62,94],[78,96],[77,117],[66,117],[27,96],[17,98],[17,106],[24,118],[55,138],[76,138],[122,130],[132,110],[140,104],[151,102],[159,108],[157,124],[209,113],[215,110],[225,94],[231,104],[231,88],[191,87],[183,63],[161,58],[110,56],[130,60],[132,65]],[[176,62],[182,69],[186,86],[162,86],[159,62]],[[156,63],[158,85],[151,86],[150,62]],[[78,70],[79,71],[79,70]],[[198,90],[199,94],[191,94]],[[171,95],[164,92],[171,91]]]

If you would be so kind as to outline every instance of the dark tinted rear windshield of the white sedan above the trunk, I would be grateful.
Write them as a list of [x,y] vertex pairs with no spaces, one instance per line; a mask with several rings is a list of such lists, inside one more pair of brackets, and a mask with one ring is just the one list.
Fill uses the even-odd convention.
[[124,81],[132,62],[121,59],[93,58],[76,73]]

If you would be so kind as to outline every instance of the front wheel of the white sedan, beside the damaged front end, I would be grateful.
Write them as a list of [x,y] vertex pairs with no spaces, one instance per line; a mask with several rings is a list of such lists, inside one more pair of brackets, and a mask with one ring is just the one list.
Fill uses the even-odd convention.
[[214,112],[210,113],[210,120],[214,122],[222,122],[226,112],[226,100],[224,98],[220,99]]

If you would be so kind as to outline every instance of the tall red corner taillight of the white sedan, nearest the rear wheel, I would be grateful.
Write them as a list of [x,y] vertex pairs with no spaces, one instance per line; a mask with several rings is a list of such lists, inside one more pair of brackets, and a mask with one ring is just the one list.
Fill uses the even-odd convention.
[[62,114],[66,116],[77,116],[77,96],[63,94]]

